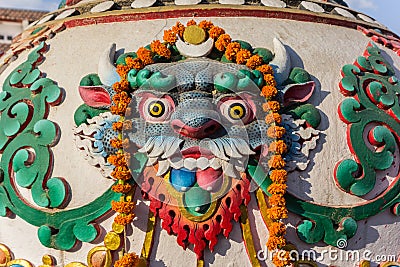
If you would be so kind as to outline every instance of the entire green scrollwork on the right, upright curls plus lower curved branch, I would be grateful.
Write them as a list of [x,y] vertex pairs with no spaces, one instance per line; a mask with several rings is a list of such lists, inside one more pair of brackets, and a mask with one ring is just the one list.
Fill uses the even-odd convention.
[[[368,46],[365,57],[358,58],[355,65],[346,65],[342,72],[340,89],[349,98],[340,104],[339,116],[349,125],[348,142],[356,160],[341,161],[335,175],[343,190],[365,195],[374,188],[376,171],[388,169],[394,161],[393,153],[400,134],[396,115],[400,86],[393,76],[393,68],[374,44]],[[296,115],[306,119],[301,114]],[[255,170],[251,164],[249,174],[259,185],[270,182],[267,174]],[[261,188],[268,194],[265,187]],[[285,198],[288,210],[304,218],[297,226],[301,240],[307,243],[324,241],[341,247],[340,242],[355,235],[357,221],[388,208],[393,214],[399,214],[400,178],[397,175],[376,198],[354,205],[326,206],[301,200],[290,193]]]

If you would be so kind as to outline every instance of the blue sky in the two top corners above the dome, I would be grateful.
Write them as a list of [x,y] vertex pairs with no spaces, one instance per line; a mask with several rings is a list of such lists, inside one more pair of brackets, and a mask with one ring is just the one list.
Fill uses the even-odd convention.
[[[400,35],[400,0],[345,0]],[[0,7],[55,10],[60,0],[0,0]]]

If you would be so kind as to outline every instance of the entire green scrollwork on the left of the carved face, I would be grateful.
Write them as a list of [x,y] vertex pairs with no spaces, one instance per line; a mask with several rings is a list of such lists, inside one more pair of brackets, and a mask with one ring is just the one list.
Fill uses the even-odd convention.
[[[14,213],[39,227],[44,246],[69,250],[77,241],[91,242],[98,236],[95,220],[111,209],[111,200],[118,201],[120,194],[107,190],[85,206],[62,210],[68,200],[67,182],[51,176],[51,148],[61,133],[47,116],[52,106],[61,103],[64,91],[38,69],[46,49],[45,43],[34,49],[0,92],[0,216]],[[146,160],[137,157],[134,176],[142,172]],[[15,184],[30,188],[34,202],[42,208],[27,205]]]

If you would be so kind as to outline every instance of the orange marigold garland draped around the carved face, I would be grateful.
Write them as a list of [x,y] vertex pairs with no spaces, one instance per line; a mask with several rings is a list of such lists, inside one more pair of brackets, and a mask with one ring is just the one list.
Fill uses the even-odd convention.
[[[194,20],[190,20],[187,26],[197,25]],[[277,95],[276,81],[273,76],[273,70],[268,62],[263,62],[263,58],[257,54],[252,53],[248,49],[242,48],[239,42],[232,42],[231,37],[225,31],[214,26],[210,21],[201,21],[198,26],[202,28],[209,38],[214,39],[214,47],[220,52],[223,52],[225,58],[237,64],[246,65],[252,70],[258,70],[262,73],[264,78],[264,86],[261,89],[261,95],[265,97],[266,102],[262,108],[267,113],[265,121],[270,125],[266,134],[270,138],[280,139],[285,133],[285,128],[279,126],[282,118],[278,111],[280,104],[274,101],[273,98]],[[128,56],[125,58],[125,64],[117,66],[117,73],[121,77],[121,81],[113,85],[116,94],[113,97],[113,105],[111,112],[121,116],[121,120],[113,124],[113,129],[119,133],[118,138],[111,140],[110,143],[113,147],[118,149],[115,155],[111,155],[108,161],[115,166],[112,172],[112,177],[118,180],[117,184],[112,187],[117,193],[121,193],[120,201],[112,202],[112,209],[119,213],[114,222],[119,225],[127,225],[131,223],[135,217],[134,208],[135,202],[127,197],[132,190],[129,181],[132,179],[130,174],[127,159],[124,155],[122,148],[126,145],[126,141],[122,140],[123,128],[129,128],[129,124],[123,123],[124,116],[127,112],[128,105],[131,101],[130,93],[134,88],[130,88],[127,80],[128,72],[135,69],[141,70],[146,65],[157,62],[160,58],[170,60],[173,53],[173,46],[179,38],[183,38],[185,26],[177,22],[172,29],[165,30],[163,41],[153,41],[147,47],[141,47],[136,52],[135,56]],[[269,198],[268,214],[273,221],[270,226],[270,237],[267,242],[267,247],[270,251],[281,250],[286,246],[286,227],[281,221],[287,218],[286,202],[284,194],[286,193],[286,179],[287,173],[283,169],[285,161],[282,157],[287,150],[286,144],[282,140],[277,140],[270,144],[269,153],[270,160],[268,166],[270,167],[270,179],[272,184],[268,187],[268,193],[271,194]],[[279,257],[278,257],[279,256]],[[290,264],[289,254],[286,251],[281,251],[275,254],[273,263],[278,267],[283,267]],[[138,266],[139,258],[135,253],[126,253],[115,263],[117,267],[134,267]]]

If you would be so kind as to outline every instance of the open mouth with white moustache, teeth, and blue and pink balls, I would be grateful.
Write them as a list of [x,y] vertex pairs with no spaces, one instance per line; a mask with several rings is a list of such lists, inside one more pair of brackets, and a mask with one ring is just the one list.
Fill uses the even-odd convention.
[[147,166],[154,166],[156,175],[168,178],[179,192],[197,186],[217,192],[224,179],[241,179],[248,157],[254,154],[248,142],[239,138],[207,138],[181,150],[185,142],[173,136],[150,137],[138,150],[147,155]]

